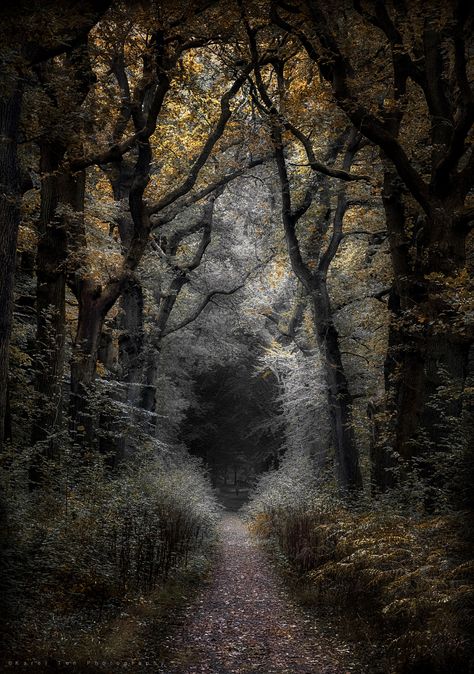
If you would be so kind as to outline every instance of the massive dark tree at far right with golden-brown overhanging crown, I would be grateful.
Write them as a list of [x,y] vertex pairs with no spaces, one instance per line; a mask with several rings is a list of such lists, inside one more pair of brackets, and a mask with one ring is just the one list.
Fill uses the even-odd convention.
[[[346,14],[317,0],[291,7],[276,0],[272,17],[297,37],[336,104],[380,148],[386,165],[395,282],[386,360],[391,433],[380,456],[390,466],[391,451],[410,463],[423,447],[446,449],[462,406],[472,328],[446,288],[463,275],[473,217],[466,201],[474,167],[466,56],[473,14],[463,2],[436,2],[426,15],[420,3],[354,7]],[[348,44],[348,21],[364,35],[363,45]],[[374,84],[370,63],[382,86]],[[443,397],[447,381],[456,392]],[[382,489],[393,481],[383,466],[379,475]]]

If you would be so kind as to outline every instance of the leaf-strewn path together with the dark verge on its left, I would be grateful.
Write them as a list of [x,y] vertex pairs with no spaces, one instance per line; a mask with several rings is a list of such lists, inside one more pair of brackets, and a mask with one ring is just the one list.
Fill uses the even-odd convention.
[[[236,512],[246,494],[224,493],[207,575],[176,578],[130,607],[55,664],[9,662],[35,674],[367,674],[366,642],[347,641],[341,617],[299,604]],[[351,635],[352,636],[352,635]],[[365,641],[365,639],[362,639]],[[367,651],[367,652],[365,652]],[[361,658],[365,664],[363,664]],[[67,662],[69,660],[69,662]],[[71,662],[72,661],[72,662]],[[375,658],[377,661],[377,658]]]

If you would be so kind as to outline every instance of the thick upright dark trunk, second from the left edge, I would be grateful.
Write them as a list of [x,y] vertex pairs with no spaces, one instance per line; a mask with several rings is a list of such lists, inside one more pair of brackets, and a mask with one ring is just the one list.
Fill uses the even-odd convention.
[[[81,106],[94,76],[87,41],[65,56],[37,68],[44,103],[37,140],[40,151],[41,207],[36,255],[36,393],[38,410],[32,442],[46,443],[45,454],[57,453],[54,432],[60,429],[65,359],[66,277],[71,218],[83,208],[84,175],[65,168],[83,126]],[[46,99],[46,100],[45,100]],[[32,483],[40,479],[35,466]]]

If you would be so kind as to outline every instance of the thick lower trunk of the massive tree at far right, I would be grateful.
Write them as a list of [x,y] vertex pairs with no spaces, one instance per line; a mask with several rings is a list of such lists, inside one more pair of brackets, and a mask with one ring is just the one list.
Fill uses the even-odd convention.
[[[433,452],[459,444],[456,420],[462,413],[472,338],[472,328],[447,297],[449,279],[465,267],[465,233],[450,217],[453,206],[446,209],[440,203],[433,218],[410,213],[393,170],[385,173],[383,202],[394,287],[385,361],[389,432],[377,441],[374,467],[382,491],[395,483],[391,469],[398,459],[407,469],[415,458],[426,460],[424,473],[429,475]],[[405,232],[411,230],[414,236],[408,241]]]

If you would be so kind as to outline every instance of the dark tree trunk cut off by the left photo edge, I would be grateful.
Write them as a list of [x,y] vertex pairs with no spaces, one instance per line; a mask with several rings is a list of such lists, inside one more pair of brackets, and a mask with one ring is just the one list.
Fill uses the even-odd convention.
[[17,145],[22,87],[16,82],[9,89],[0,99],[0,448],[5,439],[8,351],[21,198]]

